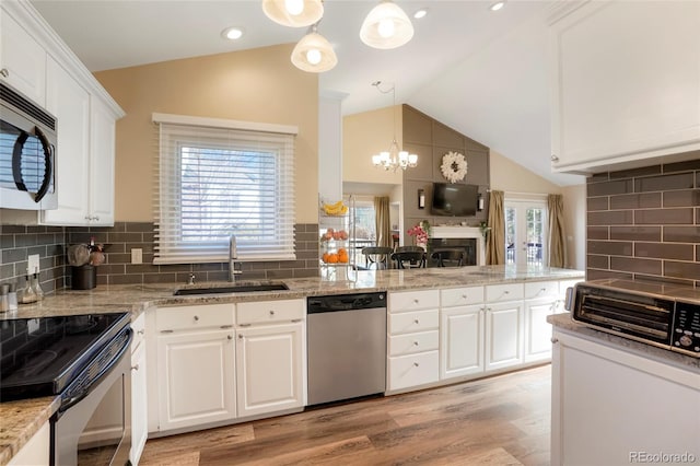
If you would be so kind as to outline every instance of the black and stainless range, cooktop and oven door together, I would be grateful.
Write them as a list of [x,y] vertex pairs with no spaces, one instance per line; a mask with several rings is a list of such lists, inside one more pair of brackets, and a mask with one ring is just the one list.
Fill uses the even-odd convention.
[[51,464],[127,465],[131,450],[128,313],[0,322],[0,399],[60,396]]

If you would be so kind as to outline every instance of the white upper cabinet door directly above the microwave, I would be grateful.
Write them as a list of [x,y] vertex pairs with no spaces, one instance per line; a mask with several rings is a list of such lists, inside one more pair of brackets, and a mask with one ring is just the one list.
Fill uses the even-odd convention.
[[0,10],[0,79],[39,106],[46,104],[46,50]]

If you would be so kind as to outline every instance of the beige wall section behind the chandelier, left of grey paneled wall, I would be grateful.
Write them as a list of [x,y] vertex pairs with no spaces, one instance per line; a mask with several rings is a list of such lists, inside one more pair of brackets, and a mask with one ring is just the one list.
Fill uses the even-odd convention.
[[401,173],[372,165],[372,155],[388,151],[394,137],[401,147],[400,105],[348,115],[342,119],[342,180],[351,183],[401,184]]

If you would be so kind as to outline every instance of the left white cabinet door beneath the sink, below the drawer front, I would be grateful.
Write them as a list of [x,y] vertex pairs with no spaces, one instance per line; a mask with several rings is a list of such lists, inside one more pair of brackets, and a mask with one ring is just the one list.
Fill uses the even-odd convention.
[[234,419],[233,328],[158,339],[160,429]]

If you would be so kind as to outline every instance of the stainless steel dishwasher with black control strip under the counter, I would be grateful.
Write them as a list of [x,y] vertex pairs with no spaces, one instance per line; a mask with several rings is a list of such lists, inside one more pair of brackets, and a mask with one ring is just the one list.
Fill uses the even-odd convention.
[[386,293],[307,299],[308,405],[386,389]]

